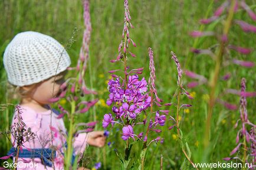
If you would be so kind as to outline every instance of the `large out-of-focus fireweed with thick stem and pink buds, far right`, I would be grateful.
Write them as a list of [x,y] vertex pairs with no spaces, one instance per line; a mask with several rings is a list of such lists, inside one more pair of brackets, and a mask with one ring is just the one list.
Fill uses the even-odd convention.
[[[252,54],[252,48],[248,46],[242,46],[241,44],[229,44],[232,41],[229,37],[229,32],[232,31],[234,28],[234,25],[239,25],[245,33],[254,33],[255,32],[255,26],[244,22],[244,21],[238,21],[234,20],[236,12],[241,11],[247,11],[247,14],[253,19],[255,14],[252,12],[250,7],[245,4],[244,0],[227,0],[224,1],[224,3],[219,6],[219,8],[214,12],[214,15],[210,16],[207,19],[202,19],[201,24],[209,24],[211,22],[215,22],[215,24],[223,25],[222,32],[214,32],[214,36],[212,38],[216,38],[216,40],[219,42],[218,45],[211,46],[208,48],[212,52],[202,51],[201,49],[192,49],[192,52],[195,54],[201,54],[201,52],[204,52],[205,54],[208,53],[209,56],[212,56],[212,53],[214,54],[214,61],[215,61],[215,67],[212,68],[212,74],[211,78],[209,79],[208,89],[210,91],[209,94],[209,102],[208,102],[208,114],[207,119],[205,122],[205,137],[204,137],[204,150],[205,150],[205,156],[208,156],[207,148],[209,146],[210,142],[210,129],[211,129],[211,121],[212,121],[212,115],[214,114],[214,106],[216,101],[218,101],[218,93],[216,93],[216,89],[218,89],[219,86],[219,75],[222,70],[224,70],[224,67],[227,67],[229,64],[237,64],[239,66],[244,66],[247,68],[253,67],[255,64],[251,61],[240,61],[235,59],[234,57],[227,57],[233,54],[231,51],[235,51],[239,55],[251,55]],[[250,21],[249,21],[250,22]],[[223,24],[224,23],[224,24]],[[207,30],[208,28],[206,28]],[[215,29],[216,30],[216,29]],[[242,46],[242,47],[241,47]],[[197,47],[196,47],[197,48]],[[212,57],[213,58],[213,57]],[[225,65],[228,63],[228,65]],[[240,69],[241,67],[239,67]],[[195,84],[192,84],[191,86],[196,86]],[[224,105],[228,109],[235,109],[234,105],[229,105],[228,102],[221,101],[222,105]]]

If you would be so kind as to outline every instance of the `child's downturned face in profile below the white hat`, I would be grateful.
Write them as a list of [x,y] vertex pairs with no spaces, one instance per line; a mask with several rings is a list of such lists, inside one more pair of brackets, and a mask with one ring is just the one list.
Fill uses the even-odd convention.
[[31,98],[40,104],[49,104],[51,98],[60,95],[60,86],[64,83],[65,74],[66,72],[61,72],[41,82],[32,92]]

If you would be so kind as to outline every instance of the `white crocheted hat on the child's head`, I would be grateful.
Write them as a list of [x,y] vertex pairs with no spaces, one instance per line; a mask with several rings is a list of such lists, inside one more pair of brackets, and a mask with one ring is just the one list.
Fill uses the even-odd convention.
[[17,86],[31,85],[65,71],[70,56],[54,38],[39,32],[21,32],[8,44],[4,66],[8,81]]

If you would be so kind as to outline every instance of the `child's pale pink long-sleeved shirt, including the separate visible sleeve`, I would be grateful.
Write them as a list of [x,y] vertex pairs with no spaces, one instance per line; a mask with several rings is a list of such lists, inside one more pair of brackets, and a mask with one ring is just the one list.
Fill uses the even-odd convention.
[[[26,124],[25,128],[31,128],[31,131],[35,133],[35,139],[29,140],[25,142],[23,145],[24,149],[30,148],[52,148],[55,146],[57,148],[56,158],[54,159],[55,170],[63,169],[64,166],[64,157],[61,154],[63,149],[65,148],[65,136],[66,129],[63,122],[63,119],[58,119],[58,112],[55,109],[49,109],[45,112],[36,112],[28,106],[21,106],[22,109],[22,119]],[[17,114],[15,112],[14,116]],[[12,125],[14,122],[18,122],[17,119],[12,118]],[[52,140],[51,140],[51,131],[52,131]],[[11,141],[14,142],[14,137],[11,137]],[[76,155],[83,153],[87,146],[87,134],[80,133],[77,137],[74,137],[73,147]],[[40,158],[23,158],[27,161],[31,161],[29,163],[24,163],[21,158],[18,158],[19,167],[17,169],[54,169],[49,166],[45,166],[42,164]],[[23,162],[23,163],[22,163]],[[34,167],[31,167],[32,163],[35,164]],[[24,164],[24,165],[23,165]],[[25,165],[28,164],[28,165]],[[22,168],[23,167],[23,168]]]

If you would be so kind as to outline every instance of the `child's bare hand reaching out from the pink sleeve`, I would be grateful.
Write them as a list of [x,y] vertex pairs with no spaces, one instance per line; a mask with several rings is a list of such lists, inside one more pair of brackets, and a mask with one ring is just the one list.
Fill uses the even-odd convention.
[[87,135],[89,135],[87,141],[89,145],[99,148],[105,145],[106,136],[104,136],[104,131],[89,132]]

